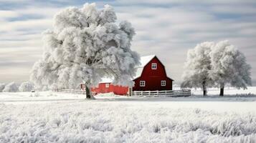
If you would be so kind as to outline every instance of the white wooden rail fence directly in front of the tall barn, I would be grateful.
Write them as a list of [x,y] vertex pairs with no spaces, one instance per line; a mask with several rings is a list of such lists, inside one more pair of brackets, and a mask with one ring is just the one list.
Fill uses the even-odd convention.
[[190,89],[183,90],[161,90],[161,91],[133,91],[131,96],[136,97],[189,97]]

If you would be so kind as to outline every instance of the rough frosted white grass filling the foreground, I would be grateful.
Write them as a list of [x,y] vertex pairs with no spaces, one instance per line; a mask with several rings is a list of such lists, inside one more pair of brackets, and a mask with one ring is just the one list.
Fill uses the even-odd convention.
[[[0,142],[256,142],[256,115],[161,102],[0,104]],[[195,103],[196,104],[196,103]]]

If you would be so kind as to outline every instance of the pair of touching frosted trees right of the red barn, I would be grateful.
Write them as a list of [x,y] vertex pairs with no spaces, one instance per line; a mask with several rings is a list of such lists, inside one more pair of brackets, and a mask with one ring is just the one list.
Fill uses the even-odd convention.
[[201,87],[204,95],[207,87],[220,87],[223,96],[226,84],[238,89],[252,85],[250,64],[227,40],[197,44],[188,51],[184,69],[181,87]]

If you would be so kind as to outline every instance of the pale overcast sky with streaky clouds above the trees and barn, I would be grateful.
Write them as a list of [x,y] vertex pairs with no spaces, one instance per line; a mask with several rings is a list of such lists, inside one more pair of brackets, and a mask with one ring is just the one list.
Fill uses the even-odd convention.
[[228,39],[247,57],[256,85],[256,1],[0,0],[0,83],[29,80],[34,61],[42,55],[42,31],[52,28],[54,14],[67,6],[110,4],[118,21],[136,29],[132,49],[141,56],[156,54],[166,72],[181,82],[188,49],[203,41]]

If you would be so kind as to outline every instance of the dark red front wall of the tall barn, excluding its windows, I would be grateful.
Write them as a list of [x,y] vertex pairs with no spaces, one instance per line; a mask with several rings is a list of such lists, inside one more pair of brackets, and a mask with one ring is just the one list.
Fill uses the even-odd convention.
[[[156,63],[157,69],[151,69],[151,64]],[[161,80],[166,81],[166,86],[161,86]],[[140,81],[146,81],[145,87],[140,87]],[[172,89],[172,80],[166,76],[166,71],[156,57],[153,58],[146,66],[144,66],[141,77],[134,80],[135,86],[133,91],[148,91],[148,90],[171,90]]]

